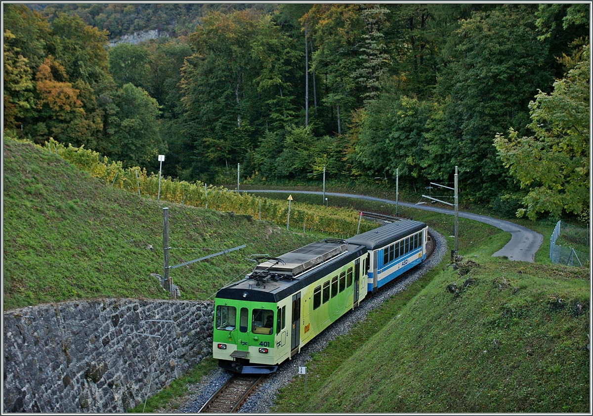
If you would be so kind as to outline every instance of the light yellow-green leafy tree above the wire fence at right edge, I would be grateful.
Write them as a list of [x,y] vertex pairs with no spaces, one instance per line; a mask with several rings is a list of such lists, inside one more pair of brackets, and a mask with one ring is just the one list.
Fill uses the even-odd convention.
[[531,101],[530,128],[534,136],[496,135],[495,146],[506,168],[529,192],[526,208],[517,216],[532,220],[547,212],[559,217],[562,210],[588,217],[590,163],[590,65],[589,44],[572,59],[565,78],[554,82],[551,94],[539,92]]

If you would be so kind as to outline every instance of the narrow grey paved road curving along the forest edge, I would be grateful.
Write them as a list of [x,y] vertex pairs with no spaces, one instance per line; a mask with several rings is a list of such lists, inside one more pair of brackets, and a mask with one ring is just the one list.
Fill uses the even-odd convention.
[[[268,193],[290,193],[290,194],[314,194],[314,195],[323,195],[322,192],[319,191],[276,191],[276,190],[246,190],[241,192],[247,193],[257,193],[257,192],[268,192]],[[377,201],[387,204],[396,204],[396,201],[390,199],[383,199],[383,198],[376,198],[376,197],[369,197],[365,195],[356,195],[356,194],[342,194],[342,193],[334,193],[334,192],[326,192],[326,196],[336,196],[336,197],[349,197],[349,198],[356,198],[356,199],[364,199],[367,201]],[[453,210],[444,209],[439,207],[427,206],[427,205],[416,205],[407,202],[398,202],[398,205],[416,209],[423,209],[426,211],[433,211],[439,212],[442,214],[454,215]],[[534,263],[535,252],[540,248],[541,243],[543,242],[543,237],[540,233],[537,233],[533,230],[525,228],[524,226],[517,225],[510,221],[499,220],[492,217],[487,217],[485,215],[477,215],[468,212],[459,212],[458,214],[460,217],[468,218],[472,220],[476,220],[479,222],[483,222],[489,225],[492,225],[496,228],[501,229],[502,231],[506,231],[511,233],[511,241],[509,241],[505,247],[501,248],[499,251],[495,252],[492,257],[503,257],[506,256],[509,260],[514,261],[528,261],[530,263]]]

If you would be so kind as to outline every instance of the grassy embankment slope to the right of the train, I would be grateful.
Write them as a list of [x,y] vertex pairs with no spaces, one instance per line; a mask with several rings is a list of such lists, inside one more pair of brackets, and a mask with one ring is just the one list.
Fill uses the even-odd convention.
[[589,412],[588,271],[492,258],[492,242],[330,343],[308,399],[298,377],[274,411]]

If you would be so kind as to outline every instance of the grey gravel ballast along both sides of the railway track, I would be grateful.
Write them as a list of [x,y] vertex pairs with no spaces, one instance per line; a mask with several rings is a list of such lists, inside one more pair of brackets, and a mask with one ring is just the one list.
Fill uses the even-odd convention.
[[[441,263],[445,252],[447,251],[447,242],[445,238],[434,230],[430,230],[433,239],[435,240],[435,250],[429,260],[420,264],[419,267],[407,271],[397,281],[386,285],[384,289],[380,290],[377,295],[365,299],[360,306],[353,311],[346,313],[342,318],[330,325],[321,334],[317,335],[307,345],[301,348],[301,352],[294,356],[292,360],[286,360],[280,364],[278,371],[268,376],[267,379],[257,387],[256,391],[251,394],[247,401],[240,408],[240,413],[268,413],[273,405],[278,390],[291,382],[292,377],[298,375],[298,367],[305,366],[311,360],[311,354],[318,353],[323,350],[326,345],[338,337],[350,331],[350,329],[358,322],[364,321],[370,311],[381,306],[385,300],[396,293],[406,289],[406,287],[422,277],[428,270]],[[207,376],[202,377],[200,383],[190,386],[190,391],[193,391],[186,401],[181,405],[176,412],[193,413],[205,404],[206,401],[218,390],[229,378],[232,373],[220,368],[213,370]]]

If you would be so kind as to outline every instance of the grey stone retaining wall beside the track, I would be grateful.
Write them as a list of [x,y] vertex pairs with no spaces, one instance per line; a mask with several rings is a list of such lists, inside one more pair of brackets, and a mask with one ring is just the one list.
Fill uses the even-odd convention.
[[125,412],[212,354],[212,302],[99,299],[4,312],[4,412]]

